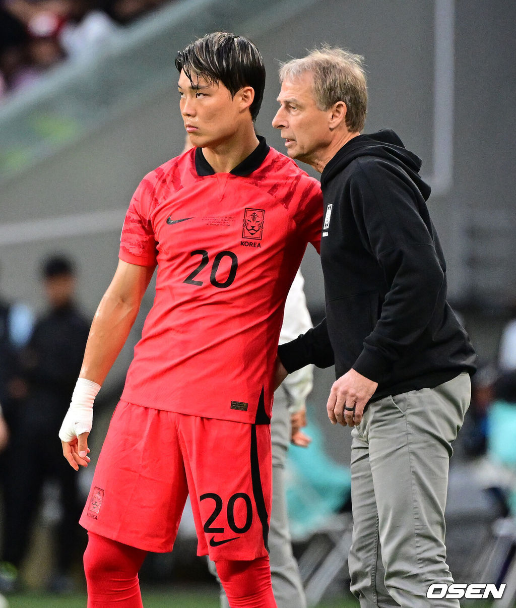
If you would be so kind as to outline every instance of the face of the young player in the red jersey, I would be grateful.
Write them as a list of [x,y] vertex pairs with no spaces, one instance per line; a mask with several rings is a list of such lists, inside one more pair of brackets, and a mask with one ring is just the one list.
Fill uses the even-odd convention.
[[[236,133],[244,119],[241,96],[231,96],[221,83],[210,83],[205,78],[193,77],[193,84],[181,71],[177,83],[179,107],[185,129],[194,146],[211,147],[224,142]],[[247,112],[249,117],[249,111]]]

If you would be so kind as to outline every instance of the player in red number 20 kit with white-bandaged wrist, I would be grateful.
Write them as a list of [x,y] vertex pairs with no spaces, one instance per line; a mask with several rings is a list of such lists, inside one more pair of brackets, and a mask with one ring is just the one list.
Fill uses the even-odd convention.
[[198,554],[216,562],[230,606],[270,608],[273,368],[287,292],[320,242],[320,186],[255,134],[265,71],[254,44],[212,33],[176,67],[196,147],[132,198],[60,431],[70,465],[87,466],[95,396],[157,266],[80,520],[88,606],[142,606],[138,570],[147,551],[171,550],[190,494]]

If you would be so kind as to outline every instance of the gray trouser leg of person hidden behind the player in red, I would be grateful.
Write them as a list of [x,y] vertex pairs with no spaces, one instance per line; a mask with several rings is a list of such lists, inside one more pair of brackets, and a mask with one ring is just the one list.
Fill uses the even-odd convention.
[[[285,492],[285,462],[291,440],[290,414],[287,394],[280,386],[274,393],[272,407],[272,509],[269,527],[269,560],[272,590],[278,608],[306,608],[303,584],[297,562],[292,554],[291,535],[287,518]],[[208,562],[210,572],[216,575],[215,564]],[[221,608],[229,603],[221,587]]]

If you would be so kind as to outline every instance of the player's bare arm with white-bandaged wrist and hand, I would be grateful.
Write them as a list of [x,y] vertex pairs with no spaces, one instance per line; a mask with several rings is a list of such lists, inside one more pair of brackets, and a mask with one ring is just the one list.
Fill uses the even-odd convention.
[[93,402],[131,331],[154,266],[120,260],[89,331],[83,364],[70,408],[59,433],[63,455],[72,468],[88,466],[88,435]]

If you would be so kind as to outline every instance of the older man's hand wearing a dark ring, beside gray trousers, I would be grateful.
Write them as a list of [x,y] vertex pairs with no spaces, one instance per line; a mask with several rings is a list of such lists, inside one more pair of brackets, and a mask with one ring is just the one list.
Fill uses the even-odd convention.
[[357,426],[362,421],[363,410],[378,386],[353,369],[335,380],[329,393],[326,409],[332,424]]

